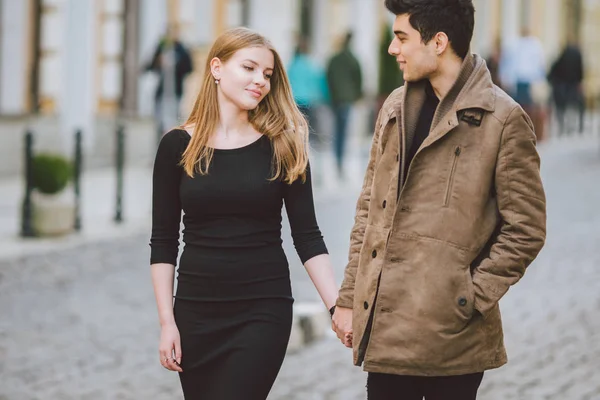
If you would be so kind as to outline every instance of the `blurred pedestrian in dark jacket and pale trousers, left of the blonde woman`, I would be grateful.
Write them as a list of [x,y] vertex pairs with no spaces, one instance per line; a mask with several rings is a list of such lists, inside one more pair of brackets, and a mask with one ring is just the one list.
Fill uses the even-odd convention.
[[159,76],[154,94],[154,115],[158,126],[159,139],[165,130],[179,124],[183,82],[192,72],[192,58],[181,43],[175,25],[169,25],[167,33],[160,39],[146,71]]

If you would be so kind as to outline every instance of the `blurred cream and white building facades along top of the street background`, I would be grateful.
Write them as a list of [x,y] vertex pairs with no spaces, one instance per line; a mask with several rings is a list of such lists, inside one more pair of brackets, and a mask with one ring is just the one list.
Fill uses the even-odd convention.
[[[581,43],[588,93],[600,93],[600,0],[474,0],[473,51],[486,55],[527,25],[548,61],[569,34]],[[284,62],[299,35],[322,63],[347,30],[363,68],[365,93],[377,89],[381,29],[391,22],[382,0],[0,0],[0,175],[21,170],[21,134],[35,129],[40,148],[68,151],[84,131],[88,165],[112,159],[118,119],[132,132],[130,160],[148,160],[156,78],[141,72],[167,25],[179,27],[194,54],[185,109],[204,58],[225,29],[245,25],[269,37]],[[106,160],[105,160],[106,159]]]

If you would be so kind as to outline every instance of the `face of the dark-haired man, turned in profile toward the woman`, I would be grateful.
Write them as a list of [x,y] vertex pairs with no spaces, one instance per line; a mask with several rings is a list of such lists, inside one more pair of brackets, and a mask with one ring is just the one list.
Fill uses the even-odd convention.
[[435,40],[423,43],[419,31],[410,24],[408,14],[397,15],[392,29],[394,39],[388,53],[396,58],[404,80],[415,82],[429,78],[438,68]]

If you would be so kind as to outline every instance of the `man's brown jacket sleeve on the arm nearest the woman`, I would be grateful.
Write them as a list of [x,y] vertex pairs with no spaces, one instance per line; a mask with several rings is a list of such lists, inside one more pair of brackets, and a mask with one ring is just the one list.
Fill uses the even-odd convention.
[[379,136],[381,135],[381,119],[385,107],[379,111],[377,122],[375,124],[375,133],[373,134],[373,143],[371,144],[371,154],[369,164],[362,185],[362,190],[356,204],[356,213],[354,216],[354,226],[350,233],[350,252],[348,255],[348,264],[344,272],[344,281],[340,288],[336,305],[339,307],[352,308],[354,301],[354,282],[356,271],[358,269],[358,258],[363,245],[365,228],[369,216],[369,205],[371,200],[371,186],[373,185],[373,174],[377,169],[379,162]]

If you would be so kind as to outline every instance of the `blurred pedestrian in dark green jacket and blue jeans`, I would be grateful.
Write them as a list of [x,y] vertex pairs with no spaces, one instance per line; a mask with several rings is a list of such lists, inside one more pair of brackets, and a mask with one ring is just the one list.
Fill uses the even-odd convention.
[[351,44],[352,32],[348,32],[344,37],[340,51],[331,57],[327,65],[327,84],[335,120],[333,144],[340,178],[344,177],[348,119],[350,118],[352,106],[363,95],[362,72],[357,58],[350,49]]

